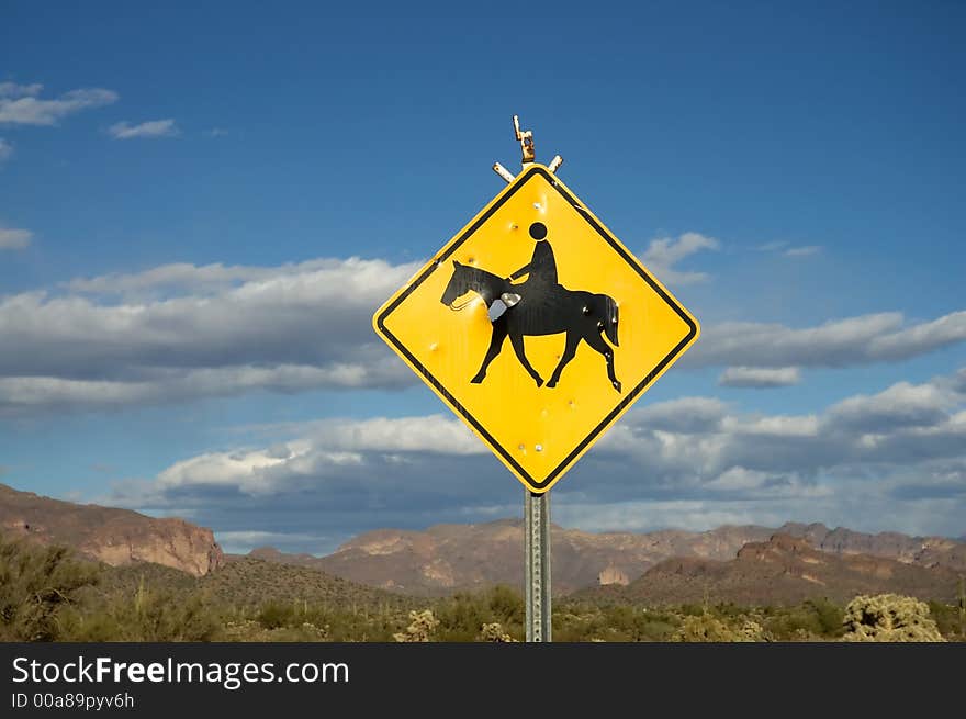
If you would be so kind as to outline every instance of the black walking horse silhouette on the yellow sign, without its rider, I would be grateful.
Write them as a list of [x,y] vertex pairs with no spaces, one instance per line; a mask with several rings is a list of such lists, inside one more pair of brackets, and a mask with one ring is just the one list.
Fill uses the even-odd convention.
[[[494,300],[504,293],[512,293],[516,288],[508,280],[493,272],[461,265],[456,260],[453,268],[449,284],[446,285],[446,291],[440,297],[440,302],[451,310],[458,308],[453,307],[452,303],[467,292],[475,292],[490,306]],[[504,340],[509,336],[520,364],[533,378],[537,386],[541,386],[543,378],[530,366],[524,352],[524,335],[555,335],[562,332],[566,333],[566,346],[547,386],[557,386],[560,373],[574,358],[581,340],[584,340],[607,360],[607,378],[614,389],[620,392],[620,382],[614,374],[614,350],[602,337],[604,333],[611,345],[618,346],[617,303],[606,294],[568,290],[561,284],[554,284],[546,291],[525,294],[513,308],[493,323],[490,349],[486,350],[480,371],[470,382],[479,384],[483,381],[486,377],[486,368],[499,355]]]

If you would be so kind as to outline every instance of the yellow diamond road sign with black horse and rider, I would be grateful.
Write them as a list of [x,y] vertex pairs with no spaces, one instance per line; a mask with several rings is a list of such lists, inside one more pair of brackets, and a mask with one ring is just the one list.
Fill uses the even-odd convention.
[[373,326],[535,493],[553,486],[699,332],[541,165],[447,243]]

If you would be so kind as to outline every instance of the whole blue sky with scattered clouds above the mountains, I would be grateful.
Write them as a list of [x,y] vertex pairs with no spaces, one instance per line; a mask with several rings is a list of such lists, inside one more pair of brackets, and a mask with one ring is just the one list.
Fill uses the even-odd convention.
[[369,326],[518,113],[704,328],[558,521],[966,532],[962,4],[178,4],[4,5],[0,481],[233,550],[518,515]]

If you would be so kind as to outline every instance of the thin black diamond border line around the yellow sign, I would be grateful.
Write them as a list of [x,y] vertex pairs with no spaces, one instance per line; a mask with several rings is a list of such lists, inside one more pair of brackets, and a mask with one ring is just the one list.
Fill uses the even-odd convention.
[[[457,401],[457,398],[456,398],[454,396],[452,396],[452,394],[450,394],[449,391],[448,391],[445,386],[442,386],[442,384],[440,384],[440,382],[439,382],[435,377],[433,377],[433,374],[429,372],[429,370],[426,369],[426,367],[425,367],[419,360],[417,360],[417,359],[413,356],[413,353],[412,353],[408,349],[406,349],[406,347],[400,341],[400,339],[398,339],[395,335],[393,335],[393,334],[389,330],[389,328],[385,326],[385,319],[389,317],[389,315],[390,315],[390,314],[391,314],[391,313],[392,313],[392,312],[393,312],[393,311],[394,311],[400,304],[402,304],[403,300],[405,300],[407,296],[409,296],[409,294],[411,294],[416,288],[418,288],[423,282],[426,281],[426,279],[433,273],[433,271],[437,268],[438,265],[440,265],[440,263],[445,262],[447,259],[449,259],[450,256],[452,256],[452,254],[456,252],[457,249],[459,249],[459,247],[460,247],[463,243],[465,243],[465,241],[467,241],[467,240],[473,235],[473,233],[475,233],[475,232],[476,232],[476,231],[483,225],[483,223],[486,222],[486,221],[491,217],[491,215],[493,215],[494,212],[496,212],[497,210],[499,210],[499,207],[503,206],[503,204],[504,204],[507,200],[509,200],[509,199],[510,199],[510,198],[512,198],[512,196],[513,196],[513,195],[514,195],[514,194],[515,194],[520,188],[523,188],[527,182],[529,182],[532,178],[535,178],[535,177],[538,176],[538,175],[541,176],[541,177],[543,177],[543,178],[550,183],[550,186],[551,186],[552,188],[554,188],[554,189],[560,193],[560,195],[561,195],[564,200],[566,200],[571,205],[573,205],[573,206],[577,210],[577,212],[580,212],[581,214],[583,214],[584,218],[585,218],[585,220],[587,221],[587,223],[588,223],[588,224],[589,224],[589,225],[591,225],[591,226],[597,232],[597,234],[600,235],[600,237],[603,237],[604,240],[605,240],[608,245],[610,245],[610,247],[613,247],[614,250],[615,250],[618,255],[620,255],[620,257],[622,257],[624,260],[625,260],[630,267],[633,268],[633,270],[634,270],[634,271],[641,277],[641,279],[644,280],[644,282],[647,282],[647,283],[651,287],[651,289],[654,290],[654,292],[656,292],[656,293],[661,296],[661,299],[664,300],[664,302],[666,302],[667,305],[669,305],[672,310],[674,310],[674,312],[677,313],[677,315],[678,315],[678,316],[685,322],[685,324],[686,324],[687,327],[688,327],[688,333],[687,333],[687,335],[684,337],[684,339],[682,339],[682,340],[681,340],[681,341],[674,347],[674,349],[672,349],[672,350],[666,355],[666,357],[664,357],[664,359],[662,359],[662,360],[658,363],[658,366],[656,366],[653,370],[651,370],[651,371],[648,373],[647,377],[644,377],[644,379],[640,382],[640,384],[638,384],[633,390],[631,390],[630,392],[627,393],[627,395],[626,395],[626,396],[625,396],[625,397],[624,397],[624,398],[617,404],[616,407],[614,407],[614,409],[610,411],[610,413],[608,413],[608,415],[607,415],[607,416],[600,422],[600,424],[598,424],[598,425],[597,425],[597,426],[596,426],[596,427],[595,427],[595,428],[594,428],[594,429],[593,429],[593,430],[592,430],[592,431],[591,431],[591,432],[589,432],[589,434],[583,439],[583,441],[581,441],[581,442],[580,442],[580,443],[579,443],[579,445],[577,445],[577,446],[576,446],[576,447],[575,447],[575,448],[574,448],[574,449],[573,449],[573,450],[572,450],[572,451],[571,451],[571,452],[570,452],[570,453],[563,459],[563,461],[560,462],[560,464],[558,464],[558,465],[553,469],[553,471],[550,472],[550,474],[547,475],[547,479],[544,479],[542,482],[538,482],[537,480],[535,480],[535,479],[530,475],[529,472],[527,472],[523,467],[520,467],[519,463],[517,463],[517,461],[513,458],[513,456],[512,456],[512,454],[510,454],[510,453],[509,453],[504,447],[502,447],[502,446],[499,445],[499,442],[497,442],[496,439],[495,439],[495,438],[494,438],[488,431],[486,431],[486,428],[483,427],[479,422],[476,422],[476,418],[473,417],[473,416],[472,416],[472,415],[465,409],[465,407],[463,407],[463,405],[460,404],[460,403]],[[632,258],[630,257],[630,255],[627,252],[627,250],[624,249],[624,247],[620,245],[620,243],[618,243],[617,239],[610,235],[610,233],[608,233],[604,227],[602,227],[600,224],[597,223],[597,221],[593,217],[593,215],[591,215],[589,213],[587,213],[586,211],[584,211],[583,205],[582,205],[580,202],[577,202],[576,198],[574,198],[574,196],[573,196],[572,194],[570,194],[564,188],[562,188],[562,187],[560,186],[560,183],[558,182],[558,180],[557,180],[553,176],[551,176],[550,172],[548,172],[547,170],[544,170],[542,167],[531,167],[529,170],[527,170],[527,171],[524,172],[520,177],[518,177],[516,180],[514,180],[513,184],[509,187],[509,189],[507,190],[506,194],[504,194],[504,195],[503,195],[497,202],[495,202],[495,203],[494,203],[494,204],[493,204],[493,205],[492,205],[492,206],[491,206],[485,213],[483,213],[483,214],[476,220],[476,222],[474,222],[472,225],[470,225],[470,226],[465,229],[465,232],[463,232],[463,234],[461,234],[461,235],[457,238],[457,240],[446,249],[446,251],[445,251],[443,254],[441,254],[439,257],[437,257],[435,261],[430,262],[430,263],[426,267],[426,269],[424,269],[424,271],[423,271],[422,273],[419,273],[419,276],[418,276],[416,279],[414,279],[414,280],[409,283],[409,287],[407,287],[403,292],[401,292],[401,293],[395,297],[395,300],[393,300],[393,301],[392,301],[392,302],[385,307],[385,310],[383,310],[383,311],[379,314],[379,316],[377,317],[377,321],[375,321],[375,322],[377,322],[377,325],[378,325],[379,329],[382,332],[383,336],[384,336],[386,339],[389,339],[389,340],[392,342],[392,345],[393,345],[393,346],[394,346],[394,347],[395,347],[395,348],[396,348],[396,349],[397,349],[397,350],[398,350],[404,357],[406,357],[406,358],[409,360],[409,362],[413,364],[413,367],[415,367],[415,368],[417,368],[417,369],[419,370],[419,373],[423,374],[423,377],[426,378],[426,380],[427,380],[433,386],[435,386],[443,397],[446,397],[446,400],[447,400],[447,402],[449,402],[450,406],[452,406],[452,407],[453,407],[453,408],[460,414],[460,416],[462,416],[467,422],[469,422],[469,423],[470,423],[470,424],[476,429],[476,431],[479,431],[480,435],[481,435],[483,438],[485,438],[486,442],[487,442],[487,443],[488,443],[488,445],[490,445],[490,446],[491,446],[491,447],[492,447],[492,448],[493,448],[493,449],[494,449],[494,450],[495,450],[495,451],[496,451],[496,452],[497,452],[497,453],[498,453],[504,460],[506,460],[507,463],[509,463],[509,464],[510,464],[510,465],[517,471],[518,475],[519,475],[521,479],[524,479],[524,481],[525,481],[525,482],[526,482],[526,483],[527,483],[532,490],[538,490],[538,491],[543,490],[544,487],[547,487],[547,485],[549,485],[551,482],[553,482],[553,480],[555,480],[555,479],[558,478],[558,475],[560,475],[560,474],[564,471],[564,469],[565,469],[565,468],[566,468],[566,467],[568,467],[568,465],[574,460],[574,458],[575,458],[575,457],[579,457],[580,453],[581,453],[586,447],[588,447],[588,446],[589,446],[589,445],[591,445],[591,443],[597,438],[597,436],[598,436],[602,431],[604,431],[604,429],[607,428],[607,426],[608,426],[611,422],[614,422],[615,417],[617,417],[617,415],[619,415],[619,414],[624,411],[625,407],[627,407],[628,405],[630,405],[630,403],[632,403],[632,402],[638,397],[638,395],[641,394],[641,392],[643,392],[644,389],[647,389],[647,386],[648,386],[651,382],[654,381],[654,378],[658,377],[658,374],[661,373],[661,371],[667,366],[667,363],[671,362],[675,357],[677,357],[677,355],[678,355],[678,353],[679,353],[685,347],[687,347],[687,344],[688,344],[688,342],[695,337],[695,335],[696,335],[697,332],[698,332],[697,325],[696,325],[695,322],[694,322],[694,321],[687,315],[687,313],[684,312],[684,310],[681,307],[681,305],[678,305],[678,304],[677,304],[677,303],[671,297],[671,295],[669,295],[669,294],[667,294],[667,293],[661,288],[661,285],[658,284],[658,283],[654,281],[654,279],[653,279],[650,274],[648,274],[647,271],[644,271],[644,269],[640,266],[639,262],[637,262],[634,259],[632,259]]]

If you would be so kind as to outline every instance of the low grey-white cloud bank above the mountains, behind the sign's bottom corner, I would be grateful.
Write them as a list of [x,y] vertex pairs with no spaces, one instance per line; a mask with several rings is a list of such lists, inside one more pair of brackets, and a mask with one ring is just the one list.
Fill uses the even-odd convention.
[[[958,380],[899,383],[809,415],[741,412],[709,397],[632,409],[554,490],[554,519],[598,530],[796,519],[962,533],[966,394],[950,390]],[[516,480],[453,418],[288,430],[282,441],[188,458],[111,499],[188,507],[216,531],[325,526],[341,537],[519,512]]]

